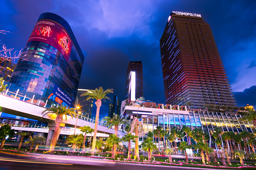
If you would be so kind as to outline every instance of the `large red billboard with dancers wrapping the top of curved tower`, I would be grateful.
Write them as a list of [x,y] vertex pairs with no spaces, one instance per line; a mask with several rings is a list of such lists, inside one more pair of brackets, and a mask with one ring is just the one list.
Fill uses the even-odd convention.
[[57,48],[68,61],[73,43],[67,31],[51,20],[40,20],[36,23],[29,41],[40,41]]

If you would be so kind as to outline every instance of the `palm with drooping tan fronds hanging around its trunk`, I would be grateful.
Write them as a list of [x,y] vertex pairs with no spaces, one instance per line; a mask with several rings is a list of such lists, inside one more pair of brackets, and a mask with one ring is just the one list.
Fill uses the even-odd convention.
[[136,117],[132,121],[130,133],[135,133],[135,136],[138,136],[135,138],[135,156],[139,160],[139,137],[143,136],[143,125]]

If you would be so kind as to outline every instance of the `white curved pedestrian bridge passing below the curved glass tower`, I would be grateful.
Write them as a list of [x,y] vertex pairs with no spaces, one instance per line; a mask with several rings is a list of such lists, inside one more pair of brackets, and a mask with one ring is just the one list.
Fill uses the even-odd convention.
[[[0,94],[0,112],[5,112],[12,115],[17,115],[21,117],[26,117],[29,119],[38,120],[41,122],[48,122],[49,129],[55,126],[55,118],[56,115],[46,114],[43,116],[42,112],[45,110],[45,104],[41,104],[42,101],[38,103],[34,103],[34,99],[24,100],[26,96],[20,97],[19,90],[16,92],[11,92],[9,89],[5,90],[2,94]],[[77,121],[77,122],[76,122]],[[77,128],[81,126],[90,126],[94,129],[95,121],[88,119],[83,116],[78,116],[78,119],[72,119],[71,116],[67,115],[67,119],[63,119],[62,126],[72,127],[74,128],[76,125]],[[54,130],[54,129],[53,129]],[[102,134],[114,134],[114,129],[108,128],[99,122],[97,132]],[[118,131],[119,136],[124,136],[125,133]]]

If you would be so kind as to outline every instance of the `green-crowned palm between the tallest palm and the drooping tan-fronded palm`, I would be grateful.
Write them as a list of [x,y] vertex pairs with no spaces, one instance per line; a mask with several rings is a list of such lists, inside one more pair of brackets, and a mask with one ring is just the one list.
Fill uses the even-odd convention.
[[[119,126],[122,125],[122,124],[126,124],[127,120],[126,120],[127,117],[122,117],[118,114],[114,115],[113,118],[111,117],[104,117],[103,121],[106,121],[106,125],[108,126],[108,129],[111,128],[112,126],[114,126],[114,134],[117,135],[118,133],[118,130],[119,130]],[[114,150],[116,151],[116,145],[114,146]],[[116,154],[116,153],[114,153]]]

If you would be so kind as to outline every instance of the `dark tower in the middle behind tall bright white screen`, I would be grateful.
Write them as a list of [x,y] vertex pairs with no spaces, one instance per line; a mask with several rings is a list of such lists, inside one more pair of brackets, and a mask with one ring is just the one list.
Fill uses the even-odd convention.
[[130,72],[135,72],[135,99],[143,97],[143,73],[141,61],[130,61],[126,72],[126,98],[129,98]]

